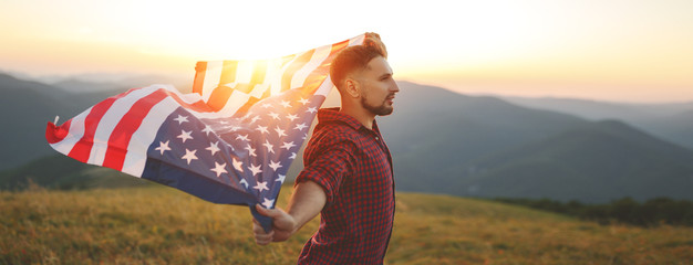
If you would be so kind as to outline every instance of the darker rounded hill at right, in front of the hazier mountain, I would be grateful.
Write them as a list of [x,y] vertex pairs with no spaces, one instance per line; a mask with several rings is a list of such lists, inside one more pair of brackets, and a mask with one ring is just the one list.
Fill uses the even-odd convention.
[[459,195],[607,202],[622,197],[693,199],[693,151],[620,121],[568,129],[475,161]]

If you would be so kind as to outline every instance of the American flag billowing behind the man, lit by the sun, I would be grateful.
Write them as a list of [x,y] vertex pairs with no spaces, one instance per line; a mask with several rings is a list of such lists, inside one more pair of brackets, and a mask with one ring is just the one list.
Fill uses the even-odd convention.
[[332,89],[335,54],[365,34],[262,61],[198,62],[193,93],[168,85],[106,98],[61,126],[53,149],[204,200],[273,208],[290,163]]

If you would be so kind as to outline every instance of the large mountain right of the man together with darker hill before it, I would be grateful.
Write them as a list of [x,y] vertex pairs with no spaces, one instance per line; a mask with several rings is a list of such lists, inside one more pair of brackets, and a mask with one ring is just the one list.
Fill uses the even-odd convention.
[[623,123],[400,87],[395,113],[379,123],[401,190],[586,202],[693,199],[691,150]]

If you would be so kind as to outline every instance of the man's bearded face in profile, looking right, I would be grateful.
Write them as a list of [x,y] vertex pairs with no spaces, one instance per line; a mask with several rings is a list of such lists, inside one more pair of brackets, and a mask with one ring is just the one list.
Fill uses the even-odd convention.
[[394,110],[392,104],[400,87],[392,78],[392,68],[384,57],[374,57],[359,74],[361,84],[361,106],[374,115],[390,115]]

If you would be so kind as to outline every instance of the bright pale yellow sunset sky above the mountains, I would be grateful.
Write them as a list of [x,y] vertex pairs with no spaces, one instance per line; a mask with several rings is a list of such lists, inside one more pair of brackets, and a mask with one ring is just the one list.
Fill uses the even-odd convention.
[[0,70],[189,76],[376,32],[395,78],[470,95],[693,102],[693,1],[0,0]]

